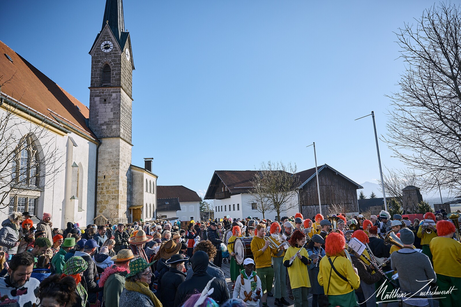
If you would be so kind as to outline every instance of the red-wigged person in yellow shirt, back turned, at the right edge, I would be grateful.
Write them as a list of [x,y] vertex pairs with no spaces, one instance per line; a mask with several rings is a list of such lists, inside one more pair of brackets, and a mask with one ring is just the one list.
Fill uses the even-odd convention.
[[437,286],[440,291],[455,289],[444,298],[439,298],[441,307],[458,306],[461,300],[461,243],[453,240],[456,227],[449,221],[437,222],[438,237],[432,239],[430,248],[434,271],[437,274]]

